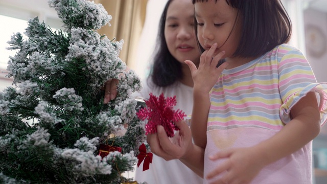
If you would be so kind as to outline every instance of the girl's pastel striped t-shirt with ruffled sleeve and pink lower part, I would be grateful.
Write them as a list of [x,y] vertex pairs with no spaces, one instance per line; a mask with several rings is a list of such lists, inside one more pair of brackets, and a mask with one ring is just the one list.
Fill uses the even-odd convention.
[[[317,94],[323,125],[327,120],[326,89],[326,83],[316,82],[305,56],[288,44],[224,70],[210,94],[204,175],[219,164],[209,160],[209,155],[269,139],[291,120],[291,108],[310,91]],[[265,167],[253,183],[309,183],[311,159],[310,142]]]

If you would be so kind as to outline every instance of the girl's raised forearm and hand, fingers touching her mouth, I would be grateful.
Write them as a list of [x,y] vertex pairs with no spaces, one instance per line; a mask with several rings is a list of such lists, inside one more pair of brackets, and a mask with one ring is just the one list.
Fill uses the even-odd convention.
[[198,68],[196,68],[192,61],[185,61],[190,67],[194,83],[194,102],[191,119],[193,140],[194,144],[203,149],[206,146],[206,127],[210,108],[209,91],[213,88],[220,74],[228,65],[225,62],[217,68],[217,64],[222,59],[225,52],[220,52],[214,57],[216,49],[217,43],[213,44],[209,50],[201,54]]

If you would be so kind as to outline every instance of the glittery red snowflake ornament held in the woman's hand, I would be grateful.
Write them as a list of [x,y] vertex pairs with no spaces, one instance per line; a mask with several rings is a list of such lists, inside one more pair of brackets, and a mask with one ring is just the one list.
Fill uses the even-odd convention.
[[174,110],[176,105],[176,96],[164,97],[164,93],[158,97],[150,93],[149,100],[145,100],[146,107],[140,109],[136,114],[141,120],[148,120],[145,126],[146,134],[157,132],[157,125],[162,125],[169,137],[174,136],[174,131],[179,130],[174,122],[182,120],[186,114],[178,109]]

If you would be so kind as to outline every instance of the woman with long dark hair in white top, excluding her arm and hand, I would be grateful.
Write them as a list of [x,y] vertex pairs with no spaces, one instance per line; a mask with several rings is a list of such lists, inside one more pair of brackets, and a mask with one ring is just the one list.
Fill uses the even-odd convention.
[[[194,31],[194,6],[189,0],[169,0],[159,22],[157,48],[150,76],[143,83],[138,96],[149,98],[152,93],[165,97],[176,96],[175,109],[191,114],[193,106],[193,80],[185,60],[199,64],[200,51]],[[135,180],[152,183],[202,183],[201,177],[180,160],[170,160],[154,155],[150,169],[136,169]]]

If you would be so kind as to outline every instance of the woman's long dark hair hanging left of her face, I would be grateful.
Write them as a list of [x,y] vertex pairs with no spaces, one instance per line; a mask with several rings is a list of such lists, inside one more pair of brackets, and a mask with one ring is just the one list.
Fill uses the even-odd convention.
[[169,86],[183,77],[181,63],[171,55],[165,39],[167,10],[172,1],[174,0],[169,0],[167,2],[164,12],[161,14],[156,49],[149,76],[149,79],[151,79],[155,85],[160,87]]

